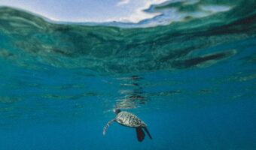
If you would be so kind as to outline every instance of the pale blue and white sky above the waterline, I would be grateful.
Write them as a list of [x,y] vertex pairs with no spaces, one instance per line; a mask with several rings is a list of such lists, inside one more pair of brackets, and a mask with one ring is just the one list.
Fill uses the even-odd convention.
[[0,6],[17,7],[61,22],[139,23],[159,13],[146,13],[166,0],[0,0]]

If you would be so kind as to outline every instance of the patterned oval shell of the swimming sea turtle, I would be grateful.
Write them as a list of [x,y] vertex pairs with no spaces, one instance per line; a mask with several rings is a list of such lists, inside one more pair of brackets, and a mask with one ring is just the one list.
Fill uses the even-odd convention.
[[118,113],[115,120],[126,127],[146,127],[144,121],[128,112]]

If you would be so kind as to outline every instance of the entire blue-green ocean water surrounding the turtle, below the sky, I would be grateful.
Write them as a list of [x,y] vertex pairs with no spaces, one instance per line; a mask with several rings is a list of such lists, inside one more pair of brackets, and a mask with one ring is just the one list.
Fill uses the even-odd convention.
[[[0,149],[256,149],[255,5],[173,1],[137,25],[0,7]],[[103,136],[114,108],[153,139],[117,123]]]

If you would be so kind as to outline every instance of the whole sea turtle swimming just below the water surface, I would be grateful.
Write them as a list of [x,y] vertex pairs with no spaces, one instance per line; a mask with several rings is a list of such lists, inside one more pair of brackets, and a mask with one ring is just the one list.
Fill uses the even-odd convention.
[[121,124],[123,126],[136,128],[137,139],[139,140],[139,142],[142,142],[145,137],[145,133],[142,129],[144,129],[146,133],[148,133],[149,138],[152,139],[151,134],[147,129],[147,125],[144,123],[144,121],[142,121],[136,115],[133,115],[133,113],[128,113],[124,111],[121,112],[120,109],[114,110],[114,113],[117,116],[111,121],[108,121],[108,124],[105,125],[103,129],[103,135],[105,135],[105,132],[108,129],[109,125],[114,121],[116,121],[118,124]]

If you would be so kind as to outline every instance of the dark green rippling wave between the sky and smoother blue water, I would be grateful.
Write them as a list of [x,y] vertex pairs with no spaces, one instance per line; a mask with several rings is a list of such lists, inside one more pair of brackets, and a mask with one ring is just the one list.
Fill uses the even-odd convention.
[[[143,25],[157,23],[168,15],[144,20],[137,26],[81,25],[53,23],[32,13],[0,7],[0,40],[4,41],[0,43],[0,60],[23,68],[42,69],[49,65],[102,74],[206,67],[236,55],[239,50],[230,47],[216,52],[212,47],[255,36],[255,3],[172,1],[154,5],[146,11],[168,13],[175,8],[187,13],[182,20],[147,28]],[[224,5],[228,7],[220,7]],[[220,11],[212,13],[216,7]],[[211,15],[194,17],[191,14],[197,9]]]

